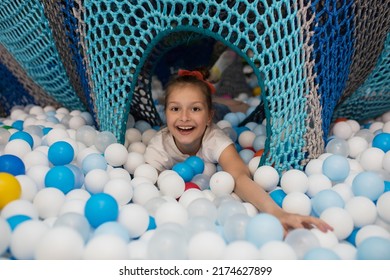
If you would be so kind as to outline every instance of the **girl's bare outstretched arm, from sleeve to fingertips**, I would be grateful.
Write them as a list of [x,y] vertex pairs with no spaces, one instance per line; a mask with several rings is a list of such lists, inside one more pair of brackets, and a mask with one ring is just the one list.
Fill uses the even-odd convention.
[[251,179],[250,172],[234,145],[229,145],[221,154],[219,164],[235,180],[234,192],[244,201],[253,204],[260,212],[274,215],[288,231],[292,228],[312,228],[316,226],[326,232],[332,228],[324,221],[311,216],[291,214],[280,208],[269,194]]

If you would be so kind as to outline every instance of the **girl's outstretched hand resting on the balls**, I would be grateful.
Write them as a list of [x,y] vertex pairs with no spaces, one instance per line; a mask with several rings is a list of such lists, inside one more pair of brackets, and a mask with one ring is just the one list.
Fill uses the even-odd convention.
[[306,229],[318,228],[322,232],[333,230],[333,228],[327,223],[325,223],[323,220],[312,216],[291,214],[283,211],[279,215],[277,215],[277,218],[282,223],[285,234],[287,234],[289,230],[295,228],[306,228]]

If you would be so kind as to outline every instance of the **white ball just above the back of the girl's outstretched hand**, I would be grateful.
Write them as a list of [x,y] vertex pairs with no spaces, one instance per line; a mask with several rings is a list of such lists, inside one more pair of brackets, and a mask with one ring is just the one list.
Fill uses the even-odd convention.
[[308,216],[311,213],[311,200],[301,192],[290,192],[283,199],[282,208],[293,214]]

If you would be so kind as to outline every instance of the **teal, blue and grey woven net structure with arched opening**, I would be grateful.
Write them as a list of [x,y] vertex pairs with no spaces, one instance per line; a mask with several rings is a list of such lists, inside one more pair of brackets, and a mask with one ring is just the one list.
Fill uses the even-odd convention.
[[388,0],[2,1],[1,69],[18,86],[0,83],[0,112],[14,95],[88,110],[123,142],[129,113],[163,124],[151,95],[161,57],[212,38],[263,89],[253,113],[267,120],[262,164],[303,168],[335,118],[390,109],[389,21]]

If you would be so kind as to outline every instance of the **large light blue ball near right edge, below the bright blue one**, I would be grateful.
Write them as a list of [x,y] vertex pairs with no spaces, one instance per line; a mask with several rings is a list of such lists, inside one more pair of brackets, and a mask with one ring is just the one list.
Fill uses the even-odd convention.
[[376,201],[384,191],[384,180],[371,171],[360,172],[352,181],[352,192],[355,196],[365,196]]

